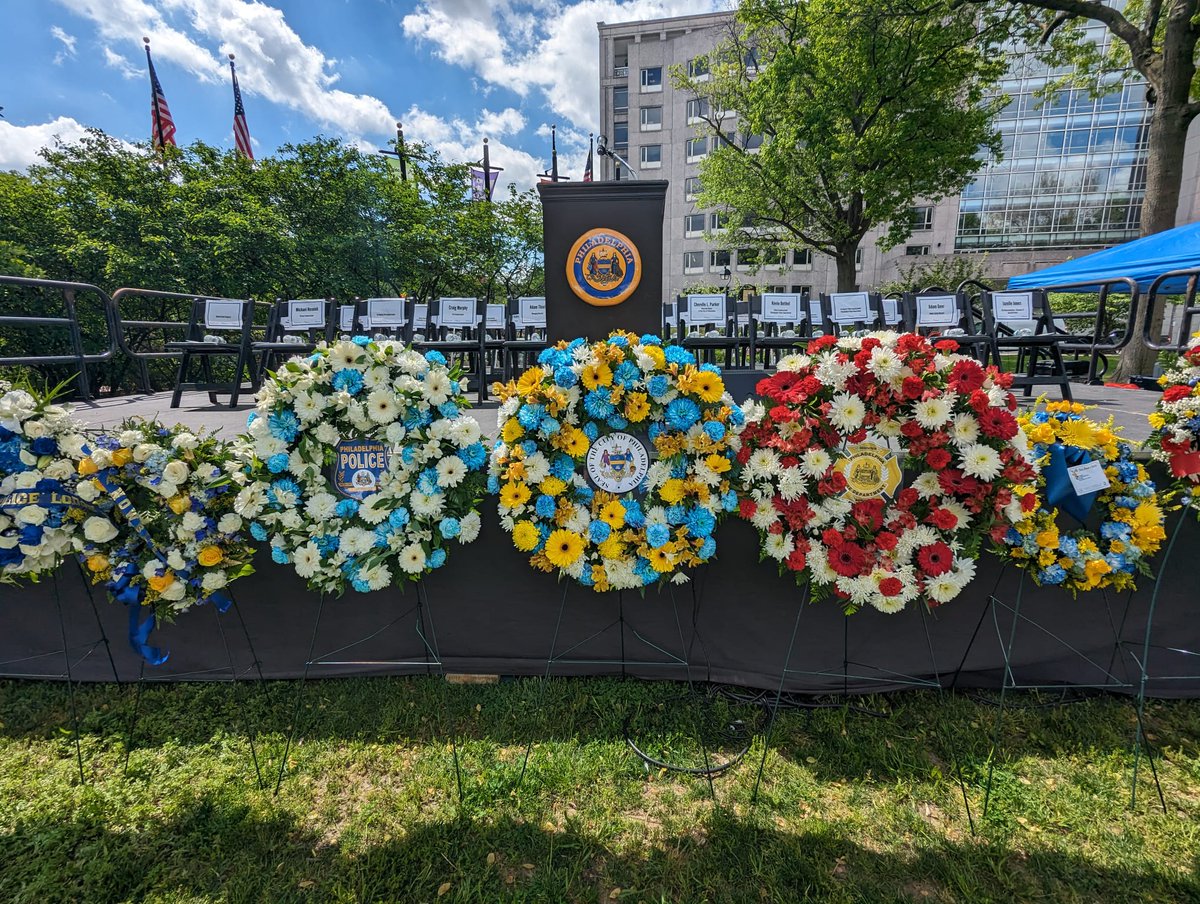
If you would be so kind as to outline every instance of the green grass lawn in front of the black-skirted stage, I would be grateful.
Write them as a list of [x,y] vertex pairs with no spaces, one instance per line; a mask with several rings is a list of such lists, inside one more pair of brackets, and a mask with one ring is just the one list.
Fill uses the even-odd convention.
[[761,738],[715,803],[625,744],[632,707],[678,754],[678,686],[313,682],[277,797],[245,726],[274,785],[294,684],[148,689],[124,774],[132,700],[82,690],[80,785],[65,687],[0,683],[0,902],[1200,900],[1198,702],[1148,707],[1165,814],[1148,771],[1130,812],[1133,710],[1097,698],[1009,711],[982,819],[996,710],[965,695],[782,714],[757,806]]

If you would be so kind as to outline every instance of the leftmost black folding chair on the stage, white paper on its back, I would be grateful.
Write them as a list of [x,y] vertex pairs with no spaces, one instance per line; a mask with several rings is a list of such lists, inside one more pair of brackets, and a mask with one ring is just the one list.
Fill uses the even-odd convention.
[[[209,394],[209,401],[217,405],[217,394],[229,394],[229,407],[238,406],[242,391],[242,375],[250,382],[250,391],[258,389],[258,373],[251,349],[254,325],[254,303],[233,299],[198,298],[192,303],[187,322],[187,335],[178,342],[168,342],[167,351],[179,353],[179,373],[170,407],[178,408],[185,389]],[[221,334],[229,334],[228,341]],[[233,377],[228,383],[212,377],[212,361],[220,358],[234,359]],[[192,378],[192,365],[199,364],[200,379]]]

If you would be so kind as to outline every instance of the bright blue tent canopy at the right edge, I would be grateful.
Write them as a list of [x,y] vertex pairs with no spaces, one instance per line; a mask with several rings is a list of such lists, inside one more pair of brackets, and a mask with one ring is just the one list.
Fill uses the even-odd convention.
[[[1062,286],[1088,280],[1115,280],[1127,276],[1138,281],[1142,292],[1156,277],[1171,270],[1200,268],[1200,222],[1134,239],[1104,251],[1064,261],[1033,273],[1013,276],[1010,289],[1038,289],[1045,286]],[[1078,288],[1072,292],[1094,292],[1094,288]],[[1160,293],[1172,295],[1187,291],[1186,277],[1174,277],[1164,282]]]

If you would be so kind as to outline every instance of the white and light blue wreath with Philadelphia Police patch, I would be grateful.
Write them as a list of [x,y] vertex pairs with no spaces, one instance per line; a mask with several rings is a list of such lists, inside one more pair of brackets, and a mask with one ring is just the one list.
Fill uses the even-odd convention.
[[234,510],[318,592],[419,580],[479,535],[487,449],[457,367],[396,342],[320,345],[258,394]]

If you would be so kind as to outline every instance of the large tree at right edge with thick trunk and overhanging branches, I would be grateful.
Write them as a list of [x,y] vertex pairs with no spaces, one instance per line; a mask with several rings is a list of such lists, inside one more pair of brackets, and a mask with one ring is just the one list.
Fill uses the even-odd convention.
[[[1103,95],[1120,90],[1134,73],[1145,80],[1150,130],[1141,234],[1174,228],[1188,127],[1200,114],[1200,0],[1004,0],[1000,6],[1028,14],[1025,24],[1032,28],[1024,37],[1040,43],[1050,64],[1067,68],[1064,82]],[[1092,23],[1112,35],[1106,50],[1087,34]],[[1157,353],[1141,340],[1146,313],[1142,305],[1121,353],[1118,379],[1154,366]]]

